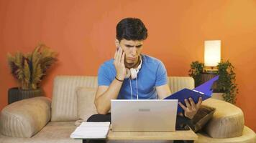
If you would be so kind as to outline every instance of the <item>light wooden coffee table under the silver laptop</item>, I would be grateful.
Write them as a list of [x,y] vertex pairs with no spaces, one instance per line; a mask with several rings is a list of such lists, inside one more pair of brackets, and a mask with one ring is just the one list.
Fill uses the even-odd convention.
[[[109,130],[106,140],[186,140],[193,142],[198,139],[195,132],[190,130],[182,130],[175,132],[113,132]],[[83,139],[86,143],[88,139]]]

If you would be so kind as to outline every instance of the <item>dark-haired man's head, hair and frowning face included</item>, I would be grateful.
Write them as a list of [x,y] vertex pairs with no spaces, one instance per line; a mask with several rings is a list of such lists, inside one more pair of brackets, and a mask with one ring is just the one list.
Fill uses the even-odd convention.
[[140,19],[126,18],[116,25],[116,47],[123,49],[127,67],[137,64],[145,39],[147,28]]

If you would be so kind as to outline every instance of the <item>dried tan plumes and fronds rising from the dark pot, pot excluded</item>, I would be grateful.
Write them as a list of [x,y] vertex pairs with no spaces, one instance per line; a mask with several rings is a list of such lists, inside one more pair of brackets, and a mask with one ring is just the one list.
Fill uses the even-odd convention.
[[38,44],[28,54],[17,52],[12,56],[8,53],[7,60],[12,75],[21,84],[21,89],[37,89],[46,75],[46,69],[57,61],[56,53],[45,44]]

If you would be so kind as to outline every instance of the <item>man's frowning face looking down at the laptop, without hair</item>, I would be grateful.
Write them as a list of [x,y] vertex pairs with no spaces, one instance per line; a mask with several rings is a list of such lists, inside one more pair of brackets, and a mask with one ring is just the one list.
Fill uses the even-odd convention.
[[143,41],[132,41],[122,39],[119,43],[125,53],[124,64],[126,66],[134,66],[139,60],[142,52]]

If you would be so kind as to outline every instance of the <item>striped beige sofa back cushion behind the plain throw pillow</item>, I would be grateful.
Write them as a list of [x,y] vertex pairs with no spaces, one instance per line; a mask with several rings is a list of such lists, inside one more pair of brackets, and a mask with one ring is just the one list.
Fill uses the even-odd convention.
[[58,76],[52,91],[51,121],[76,121],[78,119],[76,88],[98,87],[97,77]]

